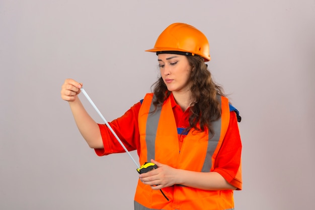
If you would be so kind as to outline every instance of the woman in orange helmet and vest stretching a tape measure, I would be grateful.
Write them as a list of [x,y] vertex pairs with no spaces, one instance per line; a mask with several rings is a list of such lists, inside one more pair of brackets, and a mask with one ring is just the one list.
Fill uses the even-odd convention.
[[[147,51],[156,52],[161,70],[153,93],[110,122],[140,164],[158,167],[139,175],[135,209],[233,209],[233,190],[242,189],[240,116],[207,70],[207,38],[174,23]],[[67,79],[61,97],[83,137],[99,156],[124,152],[86,112],[77,97],[81,87]]]

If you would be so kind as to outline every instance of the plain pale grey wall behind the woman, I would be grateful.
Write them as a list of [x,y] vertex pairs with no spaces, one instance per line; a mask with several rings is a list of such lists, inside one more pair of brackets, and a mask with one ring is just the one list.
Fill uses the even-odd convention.
[[315,1],[2,0],[0,209],[133,208],[136,167],[89,149],[60,89],[80,81],[108,121],[121,116],[150,91],[159,71],[144,50],[174,22],[208,37],[243,117],[235,209],[313,207]]

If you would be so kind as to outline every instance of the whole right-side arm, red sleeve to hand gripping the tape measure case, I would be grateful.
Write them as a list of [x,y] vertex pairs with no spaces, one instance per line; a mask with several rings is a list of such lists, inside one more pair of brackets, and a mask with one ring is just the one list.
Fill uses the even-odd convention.
[[181,184],[204,190],[240,190],[242,189],[241,151],[242,143],[239,128],[236,116],[233,114],[230,117],[230,126],[216,158],[214,171],[196,172],[176,169],[155,160],[150,160],[158,168],[140,174],[139,178],[144,184],[151,185],[152,189],[162,189],[163,187]]

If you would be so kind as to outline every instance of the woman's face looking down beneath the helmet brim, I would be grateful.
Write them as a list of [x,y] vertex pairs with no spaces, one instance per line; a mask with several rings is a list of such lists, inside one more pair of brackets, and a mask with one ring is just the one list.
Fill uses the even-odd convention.
[[161,76],[169,91],[187,92],[192,67],[185,55],[159,54]]

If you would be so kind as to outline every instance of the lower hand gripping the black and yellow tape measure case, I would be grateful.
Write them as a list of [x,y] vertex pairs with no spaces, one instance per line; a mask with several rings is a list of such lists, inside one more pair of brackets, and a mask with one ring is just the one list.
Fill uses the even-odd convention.
[[162,189],[164,187],[173,186],[176,183],[176,175],[178,169],[164,165],[151,159],[158,168],[139,175],[143,184],[151,185],[152,189]]

